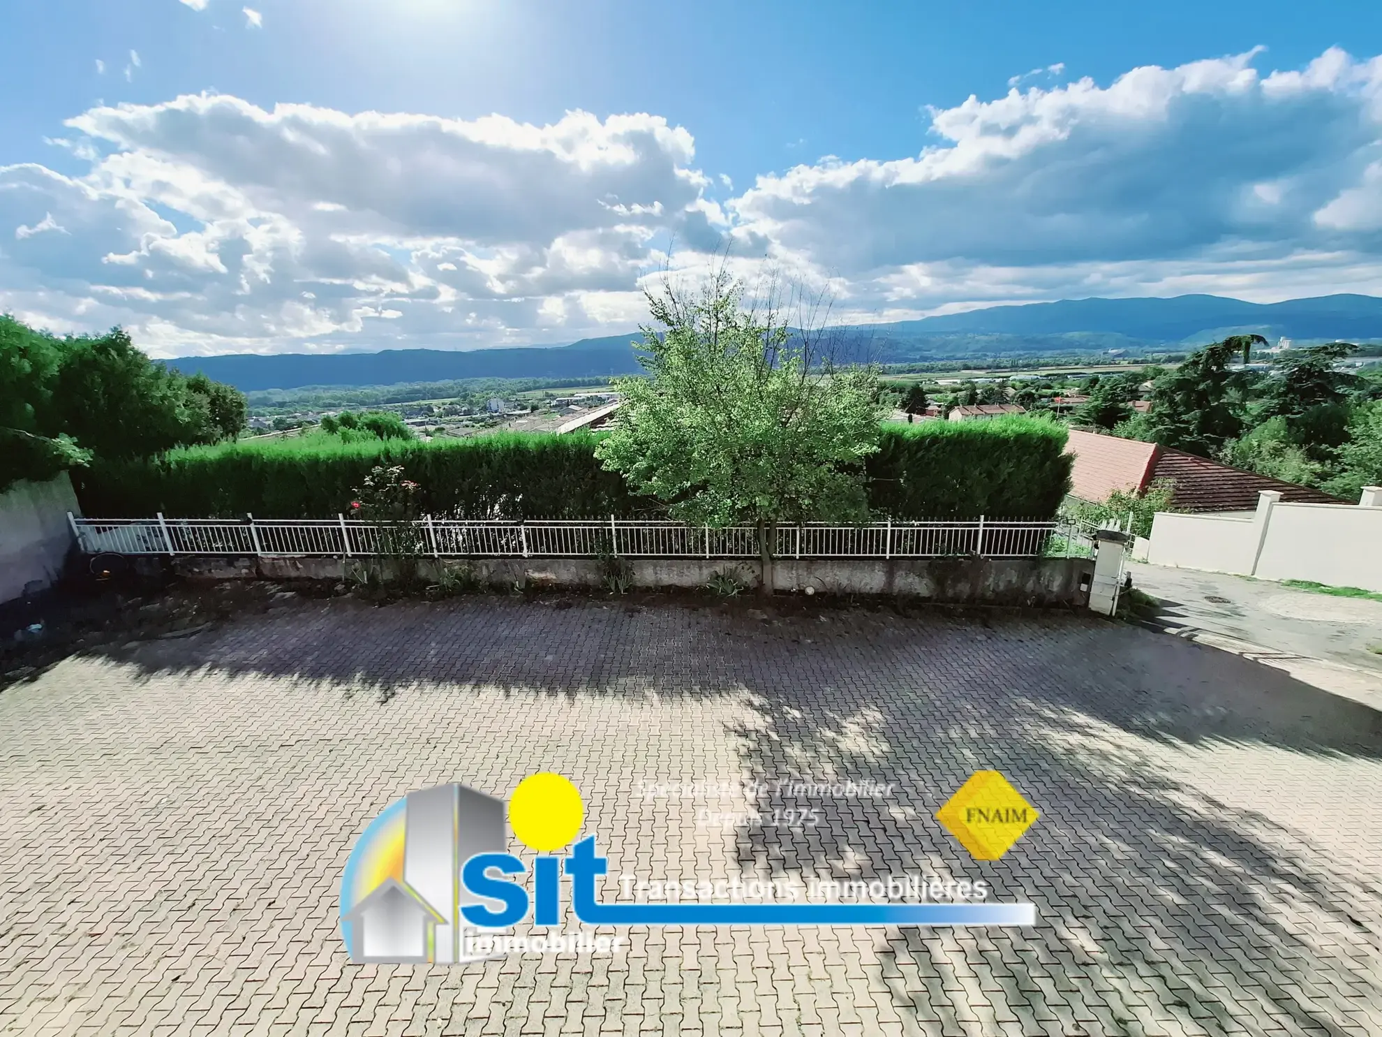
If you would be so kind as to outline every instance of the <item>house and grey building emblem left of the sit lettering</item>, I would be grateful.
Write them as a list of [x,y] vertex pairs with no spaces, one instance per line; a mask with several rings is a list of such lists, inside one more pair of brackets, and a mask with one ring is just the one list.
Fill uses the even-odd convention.
[[357,841],[341,882],[351,961],[467,961],[460,908],[478,897],[460,870],[477,853],[503,853],[506,842],[504,802],[467,785],[409,792],[388,806]]

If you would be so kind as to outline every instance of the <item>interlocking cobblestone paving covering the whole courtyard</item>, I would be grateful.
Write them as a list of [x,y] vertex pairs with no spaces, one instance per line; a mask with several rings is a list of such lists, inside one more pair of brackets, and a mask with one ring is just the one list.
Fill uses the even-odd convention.
[[[0,1033],[1382,1033],[1376,712],[1083,617],[750,610],[301,601],[11,687]],[[1042,812],[992,863],[933,819],[980,767]],[[580,787],[611,878],[920,871],[1039,924],[351,965],[369,820],[538,769]],[[789,776],[897,795],[737,805],[820,812],[792,831],[638,792]]]

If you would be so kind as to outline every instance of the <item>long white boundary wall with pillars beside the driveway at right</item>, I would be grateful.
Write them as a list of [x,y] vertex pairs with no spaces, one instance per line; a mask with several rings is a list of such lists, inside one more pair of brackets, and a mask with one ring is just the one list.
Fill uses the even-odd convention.
[[1248,518],[1158,512],[1147,561],[1382,592],[1382,488],[1354,505],[1289,505],[1265,491]]

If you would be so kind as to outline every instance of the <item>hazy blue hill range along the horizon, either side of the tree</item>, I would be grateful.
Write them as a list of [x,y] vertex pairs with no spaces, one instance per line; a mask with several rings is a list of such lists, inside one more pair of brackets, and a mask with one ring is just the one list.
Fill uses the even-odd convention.
[[[1097,354],[1108,350],[1193,348],[1227,335],[1270,340],[1382,339],[1382,299],[1335,295],[1284,303],[1220,296],[1173,299],[1067,299],[994,306],[963,314],[836,330],[842,359],[886,364],[965,357]],[[638,371],[638,332],[582,339],[569,346],[493,350],[386,350],[341,354],[232,354],[184,357],[169,364],[205,372],[252,393],[301,386],[383,386],[464,377],[607,377]]]

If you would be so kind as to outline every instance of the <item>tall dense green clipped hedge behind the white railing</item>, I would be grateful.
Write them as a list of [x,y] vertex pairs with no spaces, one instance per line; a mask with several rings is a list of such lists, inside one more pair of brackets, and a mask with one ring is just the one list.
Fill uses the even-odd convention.
[[[597,434],[340,442],[323,434],[192,447],[73,471],[86,514],[330,518],[375,465],[402,465],[431,514],[582,518],[658,514],[600,467]],[[1048,517],[1070,483],[1066,431],[1027,419],[890,426],[869,459],[869,498],[894,518]]]

